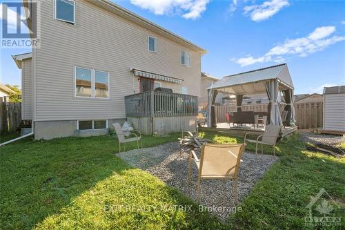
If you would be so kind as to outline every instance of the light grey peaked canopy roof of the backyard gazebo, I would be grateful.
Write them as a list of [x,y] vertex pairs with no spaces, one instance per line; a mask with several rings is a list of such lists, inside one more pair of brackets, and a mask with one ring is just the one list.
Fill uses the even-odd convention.
[[285,88],[293,88],[293,81],[286,64],[228,75],[213,84],[212,88],[234,94],[264,93],[266,88],[263,83],[269,79],[277,79]]

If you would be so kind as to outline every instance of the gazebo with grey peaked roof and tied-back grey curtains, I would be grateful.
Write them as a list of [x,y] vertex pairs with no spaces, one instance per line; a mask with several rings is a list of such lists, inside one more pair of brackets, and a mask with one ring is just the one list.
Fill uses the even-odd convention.
[[244,73],[223,77],[208,88],[208,127],[216,127],[215,98],[218,93],[236,96],[237,111],[242,111],[244,95],[266,93],[268,103],[268,124],[283,126],[279,111],[279,94],[284,97],[284,111],[287,113],[286,126],[295,126],[295,108],[293,106],[293,81],[286,64],[260,68]]

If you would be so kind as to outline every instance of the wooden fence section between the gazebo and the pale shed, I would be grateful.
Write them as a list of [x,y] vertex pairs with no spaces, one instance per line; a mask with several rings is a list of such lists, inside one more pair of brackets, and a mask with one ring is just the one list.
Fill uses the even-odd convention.
[[323,102],[295,103],[296,125],[298,128],[322,127]]

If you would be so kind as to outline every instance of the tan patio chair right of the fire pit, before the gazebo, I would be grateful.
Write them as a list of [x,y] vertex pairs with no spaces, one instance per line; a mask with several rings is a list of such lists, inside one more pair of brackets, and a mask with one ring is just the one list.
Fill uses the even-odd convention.
[[[252,133],[246,133],[246,135],[244,135],[244,143],[246,143],[246,142],[256,143],[255,154],[257,154],[257,144],[262,144],[262,146],[263,146],[263,144],[273,146],[273,155],[275,155],[275,143],[277,142],[281,128],[282,128],[282,126],[275,126],[275,125],[269,124],[265,128],[264,134],[259,135],[256,140],[247,139],[247,135],[248,134],[257,134],[257,133],[253,133],[253,132]],[[259,140],[260,138],[261,138],[261,140]],[[261,152],[264,153],[263,147],[261,148]]]

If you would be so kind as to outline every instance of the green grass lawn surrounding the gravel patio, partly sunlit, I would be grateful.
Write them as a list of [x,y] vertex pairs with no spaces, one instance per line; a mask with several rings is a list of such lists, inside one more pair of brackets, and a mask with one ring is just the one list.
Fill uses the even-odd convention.
[[[202,135],[243,142],[217,133]],[[146,136],[143,145],[177,137]],[[251,144],[247,148],[253,149]],[[297,135],[279,142],[280,160],[242,202],[243,211],[227,222],[199,212],[176,189],[114,156],[118,145],[109,135],[27,138],[0,151],[1,229],[301,229],[306,228],[306,205],[321,188],[339,204],[332,215],[345,216],[345,160],[306,151]]]

